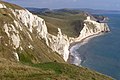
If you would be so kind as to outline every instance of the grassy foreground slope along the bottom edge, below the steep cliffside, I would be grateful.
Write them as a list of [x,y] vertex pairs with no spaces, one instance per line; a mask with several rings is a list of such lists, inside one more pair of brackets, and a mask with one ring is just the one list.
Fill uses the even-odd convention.
[[1,80],[112,80],[95,71],[75,65],[48,62],[31,64],[0,59]]

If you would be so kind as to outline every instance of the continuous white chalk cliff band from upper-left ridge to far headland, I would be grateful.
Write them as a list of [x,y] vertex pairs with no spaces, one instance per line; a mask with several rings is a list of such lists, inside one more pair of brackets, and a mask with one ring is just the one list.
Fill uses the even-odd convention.
[[[72,42],[81,41],[82,39],[101,33],[102,31],[109,31],[109,28],[107,24],[105,23],[98,23],[96,21],[90,20],[90,17],[88,16],[84,23],[84,28],[80,32],[80,35],[78,38],[73,38],[72,42],[68,39],[67,36],[63,35],[61,33],[61,29],[58,28],[58,35],[54,36],[47,32],[47,27],[45,25],[45,21],[42,18],[39,18],[33,14],[31,14],[27,10],[15,10],[13,11],[14,15],[18,17],[18,19],[24,23],[24,25],[27,27],[27,29],[32,33],[34,28],[36,28],[38,37],[44,38],[46,41],[46,44],[53,50],[58,52],[60,55],[63,56],[63,59],[65,61],[69,58],[69,46]],[[89,26],[89,24],[92,24]],[[22,30],[22,28],[20,28]],[[31,36],[29,35],[31,38]],[[32,40],[32,38],[31,38]]]

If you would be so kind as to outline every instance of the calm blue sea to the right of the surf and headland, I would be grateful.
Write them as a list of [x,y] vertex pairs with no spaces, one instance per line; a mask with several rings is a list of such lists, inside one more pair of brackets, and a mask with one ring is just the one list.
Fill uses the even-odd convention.
[[120,14],[104,15],[110,19],[111,32],[91,39],[78,49],[85,57],[81,65],[120,80]]

